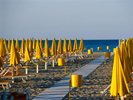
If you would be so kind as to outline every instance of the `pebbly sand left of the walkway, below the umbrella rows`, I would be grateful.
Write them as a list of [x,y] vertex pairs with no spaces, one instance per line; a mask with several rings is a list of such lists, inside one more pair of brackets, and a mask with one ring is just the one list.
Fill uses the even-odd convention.
[[[101,54],[94,54],[94,58],[99,57]],[[91,56],[87,56],[83,59],[69,60],[67,65],[67,75],[80,69],[85,64],[88,64],[93,60]],[[30,99],[37,96],[45,89],[51,87],[56,82],[60,81],[65,77],[64,67],[55,66],[54,68],[51,65],[48,65],[48,70],[44,70],[44,63],[39,64],[39,74],[36,74],[35,65],[30,66],[29,68],[29,78],[26,82],[22,82],[21,79],[15,79],[14,83],[11,83],[11,88],[6,90],[6,92],[17,92],[29,95]],[[25,73],[24,69],[21,69],[21,73]]]

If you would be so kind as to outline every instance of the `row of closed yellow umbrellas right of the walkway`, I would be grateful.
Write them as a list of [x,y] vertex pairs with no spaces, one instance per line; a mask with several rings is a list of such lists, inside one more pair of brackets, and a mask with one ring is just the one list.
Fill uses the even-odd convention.
[[114,49],[114,62],[110,94],[123,97],[130,93],[131,73],[133,67],[133,38],[121,41]]

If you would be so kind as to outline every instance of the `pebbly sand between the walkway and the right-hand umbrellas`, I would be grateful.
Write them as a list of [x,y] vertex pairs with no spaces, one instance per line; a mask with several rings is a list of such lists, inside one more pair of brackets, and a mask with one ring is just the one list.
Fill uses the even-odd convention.
[[[103,63],[89,74],[83,80],[82,87],[71,90],[71,100],[113,100],[114,98],[110,97],[109,90],[104,95],[101,93],[111,83],[112,64],[111,57],[106,64]],[[68,95],[64,100],[68,100]]]

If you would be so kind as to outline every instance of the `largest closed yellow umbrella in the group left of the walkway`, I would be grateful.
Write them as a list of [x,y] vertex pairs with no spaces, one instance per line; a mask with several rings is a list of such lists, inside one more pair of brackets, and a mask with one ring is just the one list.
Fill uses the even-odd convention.
[[11,43],[11,51],[10,51],[10,65],[15,66],[20,63],[19,53],[16,51],[14,40]]

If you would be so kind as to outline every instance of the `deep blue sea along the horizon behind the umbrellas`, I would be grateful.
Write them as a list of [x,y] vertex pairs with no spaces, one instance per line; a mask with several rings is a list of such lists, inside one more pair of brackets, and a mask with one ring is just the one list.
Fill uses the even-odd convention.
[[[94,52],[98,52],[97,47],[101,47],[102,51],[101,52],[106,52],[106,46],[110,47],[110,52],[113,52],[113,49],[118,46],[119,40],[83,40],[84,41],[84,47],[85,47],[85,52],[88,51],[88,49],[93,48]],[[77,40],[78,46],[80,44],[80,40]],[[44,47],[45,40],[42,40],[42,45]],[[63,40],[62,40],[63,43]],[[67,40],[68,43],[68,40]],[[21,40],[19,40],[19,44],[21,44]],[[49,47],[51,47],[52,40],[49,40]],[[72,45],[74,44],[74,40],[72,40]],[[58,40],[56,40],[56,45],[58,45]]]

